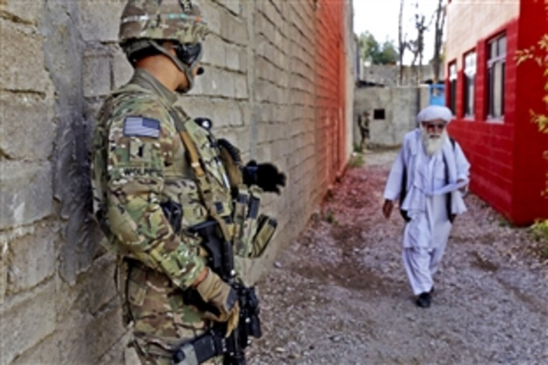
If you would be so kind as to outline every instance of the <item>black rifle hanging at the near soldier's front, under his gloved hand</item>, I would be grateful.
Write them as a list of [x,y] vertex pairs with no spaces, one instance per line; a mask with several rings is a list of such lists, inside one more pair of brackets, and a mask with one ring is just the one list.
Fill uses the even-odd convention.
[[[246,287],[236,280],[232,244],[220,233],[217,221],[207,220],[189,228],[189,232],[202,238],[207,250],[208,266],[235,291],[240,307],[238,327],[225,338],[226,324],[216,323],[212,329],[192,341],[179,346],[173,355],[174,364],[198,364],[215,356],[224,356],[225,365],[246,364],[244,349],[251,344],[250,337],[260,338],[259,299],[254,287]],[[195,290],[185,291],[185,301],[207,308]],[[210,310],[210,309],[208,309]]]

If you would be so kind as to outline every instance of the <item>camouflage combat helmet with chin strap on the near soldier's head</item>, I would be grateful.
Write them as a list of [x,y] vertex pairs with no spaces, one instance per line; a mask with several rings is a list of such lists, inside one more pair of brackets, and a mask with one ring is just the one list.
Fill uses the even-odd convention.
[[[120,19],[119,43],[135,64],[151,47],[168,56],[193,85],[194,69],[201,59],[202,41],[209,32],[198,5],[191,0],[128,0]],[[162,47],[175,44],[176,57]]]

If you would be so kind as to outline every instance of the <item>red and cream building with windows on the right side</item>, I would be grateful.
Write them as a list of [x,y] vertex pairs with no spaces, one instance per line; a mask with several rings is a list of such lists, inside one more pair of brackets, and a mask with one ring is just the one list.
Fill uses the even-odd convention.
[[[496,4],[495,4],[496,3]],[[548,218],[548,135],[530,122],[546,112],[543,70],[516,50],[547,30],[545,1],[453,0],[447,6],[446,94],[450,133],[472,163],[471,190],[515,224]]]

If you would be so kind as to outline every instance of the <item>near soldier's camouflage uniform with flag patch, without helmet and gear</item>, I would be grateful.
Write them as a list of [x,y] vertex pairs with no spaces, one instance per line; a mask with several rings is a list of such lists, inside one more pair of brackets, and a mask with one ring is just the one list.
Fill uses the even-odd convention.
[[[208,324],[203,312],[185,303],[183,295],[206,265],[200,239],[185,232],[206,220],[208,212],[173,113],[184,121],[199,152],[217,213],[232,213],[230,189],[212,136],[174,106],[175,101],[175,93],[137,69],[102,106],[92,156],[94,212],[111,246],[133,263],[121,289],[134,333],[168,341],[194,337]],[[161,209],[168,200],[182,206],[179,235]]]

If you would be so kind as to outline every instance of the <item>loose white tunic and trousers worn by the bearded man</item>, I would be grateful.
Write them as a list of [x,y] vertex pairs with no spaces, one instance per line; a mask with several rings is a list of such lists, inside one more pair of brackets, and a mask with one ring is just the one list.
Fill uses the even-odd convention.
[[[448,138],[441,151],[427,155],[421,130],[415,129],[404,138],[386,183],[385,199],[398,198],[404,169],[407,171],[407,193],[401,208],[407,210],[411,220],[403,231],[403,263],[413,293],[419,295],[430,292],[433,287],[432,275],[439,267],[452,227],[447,212],[448,194],[436,195],[435,191],[447,183],[467,181],[470,164],[458,143],[453,147]],[[460,191],[449,194],[452,214],[464,213],[466,207]]]

